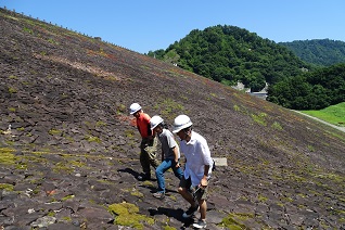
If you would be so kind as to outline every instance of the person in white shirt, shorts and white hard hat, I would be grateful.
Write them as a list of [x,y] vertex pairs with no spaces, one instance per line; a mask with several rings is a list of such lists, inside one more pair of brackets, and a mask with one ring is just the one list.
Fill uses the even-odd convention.
[[173,132],[180,138],[180,151],[186,156],[184,173],[178,192],[191,206],[182,217],[189,218],[200,208],[201,218],[193,227],[201,229],[206,228],[207,188],[214,161],[207,141],[192,130],[192,125],[187,115],[179,115],[174,120]]

